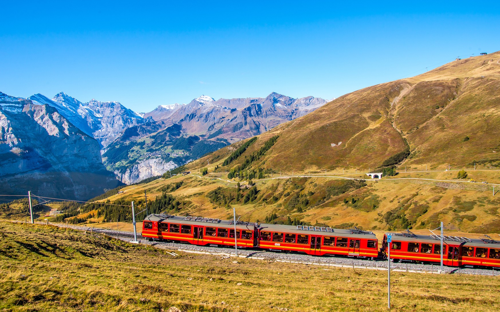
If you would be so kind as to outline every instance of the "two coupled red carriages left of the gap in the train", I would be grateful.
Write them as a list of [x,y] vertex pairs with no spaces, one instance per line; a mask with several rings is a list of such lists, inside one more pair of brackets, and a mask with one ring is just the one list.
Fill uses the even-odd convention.
[[[142,222],[142,236],[195,245],[234,246],[234,223],[212,218],[151,214]],[[368,258],[378,255],[375,234],[358,229],[237,222],[236,242],[238,247],[299,251],[311,255]]]

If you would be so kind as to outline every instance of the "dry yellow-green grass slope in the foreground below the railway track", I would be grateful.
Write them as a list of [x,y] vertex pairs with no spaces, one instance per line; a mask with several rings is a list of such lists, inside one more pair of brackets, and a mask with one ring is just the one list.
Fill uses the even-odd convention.
[[[386,273],[180,254],[0,223],[3,311],[386,311]],[[392,309],[493,311],[500,279],[392,272]],[[241,283],[238,285],[238,283]],[[141,300],[141,298],[144,298]]]

